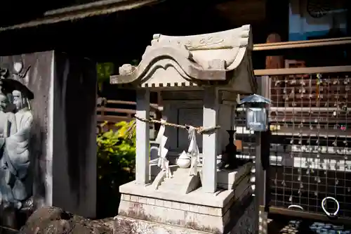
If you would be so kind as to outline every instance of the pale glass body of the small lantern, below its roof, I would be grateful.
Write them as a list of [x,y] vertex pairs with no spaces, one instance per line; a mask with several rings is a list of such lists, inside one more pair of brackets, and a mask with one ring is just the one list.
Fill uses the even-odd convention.
[[267,126],[267,112],[265,108],[246,108],[246,129],[266,131]]

